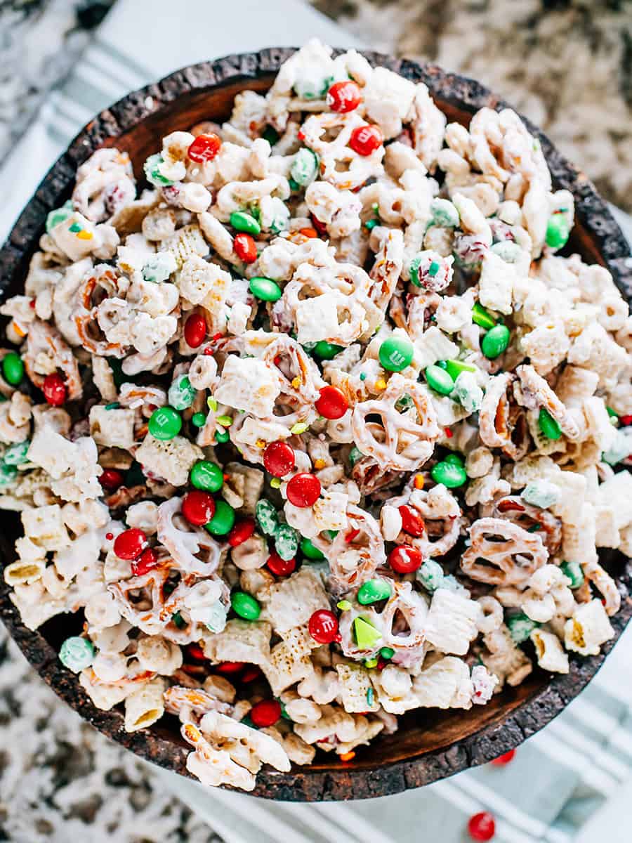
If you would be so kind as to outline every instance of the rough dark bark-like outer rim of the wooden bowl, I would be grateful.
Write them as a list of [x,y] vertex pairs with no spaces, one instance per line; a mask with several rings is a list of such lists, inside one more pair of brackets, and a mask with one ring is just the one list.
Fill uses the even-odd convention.
[[[56,163],[53,164],[34,196],[14,224],[7,242],[0,250],[0,297],[4,297],[16,279],[24,277],[28,260],[43,231],[46,214],[69,196],[76,169],[95,149],[114,145],[115,139],[130,132],[151,115],[167,108],[185,94],[212,93],[228,85],[255,79],[270,78],[296,48],[270,48],[253,53],[226,56],[216,62],[200,62],[170,73],[158,83],[127,94],[109,109],[101,111],[79,132]],[[424,82],[448,116],[451,112],[468,112],[488,106],[510,107],[478,82],[447,73],[431,64],[394,59],[373,51],[363,51],[369,62],[388,67],[414,82]],[[539,138],[549,163],[554,185],[570,190],[575,196],[578,226],[586,233],[583,247],[613,273],[615,281],[628,298],[632,298],[632,260],[629,246],[607,204],[598,196],[592,183],[553,147],[549,138],[536,126],[522,118],[530,132]],[[5,541],[0,557],[10,558]],[[457,741],[426,749],[423,753],[389,764],[372,763],[370,750],[358,753],[350,765],[320,762],[312,767],[293,767],[288,774],[270,768],[260,771],[254,795],[292,801],[342,800],[385,796],[421,787],[432,781],[452,776],[470,766],[484,764],[499,754],[513,749],[543,728],[587,685],[603,663],[606,654],[618,641],[632,615],[629,598],[632,571],[625,561],[618,577],[624,599],[618,615],[613,617],[613,640],[597,657],[571,657],[570,673],[555,675],[528,693],[510,691],[508,706],[489,717],[482,728]],[[188,749],[174,741],[173,733],[159,724],[137,733],[126,733],[120,711],[99,711],[78,684],[77,677],[62,667],[57,653],[39,631],[30,631],[19,618],[8,598],[9,589],[0,584],[0,617],[13,640],[40,676],[68,705],[110,738],[131,749],[140,757],[169,770],[189,776],[185,769]],[[508,709],[508,713],[507,713]],[[420,710],[421,712],[423,710]],[[482,712],[481,712],[482,713]],[[423,717],[423,713],[420,714]],[[467,717],[463,713],[463,717]],[[485,718],[483,718],[485,719]]]

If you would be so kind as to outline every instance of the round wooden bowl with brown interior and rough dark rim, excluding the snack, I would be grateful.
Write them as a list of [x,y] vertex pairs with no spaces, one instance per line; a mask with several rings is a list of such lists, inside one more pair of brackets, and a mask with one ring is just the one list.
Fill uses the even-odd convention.
[[[217,62],[201,62],[128,94],[102,111],[51,167],[15,223],[0,251],[0,296],[5,298],[22,288],[30,255],[44,230],[46,214],[67,200],[78,165],[95,149],[116,146],[126,150],[135,172],[141,174],[143,161],[156,152],[163,135],[175,129],[189,129],[201,120],[228,118],[234,95],[244,89],[265,92],[292,52],[289,48],[272,48],[227,56]],[[479,83],[446,73],[440,67],[374,52],[364,55],[374,65],[388,67],[415,83],[425,82],[450,121],[467,126],[471,115],[484,105],[495,109],[507,105]],[[607,266],[630,300],[632,260],[628,257],[624,235],[608,207],[586,176],[562,158],[542,132],[528,121],[525,123],[542,143],[555,187],[565,188],[575,196],[576,227],[565,253],[577,251],[586,260]],[[19,518],[6,513],[3,525],[0,559],[7,564],[14,559],[13,541],[19,534]],[[351,764],[341,763],[337,756],[319,753],[313,765],[294,767],[287,774],[266,768],[258,776],[254,794],[294,801],[384,796],[452,776],[513,749],[543,728],[580,693],[597,673],[605,654],[632,615],[629,560],[610,552],[603,554],[603,564],[617,577],[623,601],[619,614],[611,619],[615,636],[603,647],[600,656],[571,655],[568,675],[551,677],[536,670],[518,688],[505,690],[489,705],[474,706],[470,711],[411,711],[402,718],[398,732],[378,737],[370,746],[359,748]],[[31,632],[20,621],[8,599],[8,588],[2,582],[0,616],[40,676],[85,720],[142,758],[189,775],[185,769],[189,749],[179,736],[174,718],[165,717],[153,728],[126,733],[121,711],[99,711],[76,676],[62,667],[57,652],[65,637],[81,629],[81,613],[53,618],[39,631]]]

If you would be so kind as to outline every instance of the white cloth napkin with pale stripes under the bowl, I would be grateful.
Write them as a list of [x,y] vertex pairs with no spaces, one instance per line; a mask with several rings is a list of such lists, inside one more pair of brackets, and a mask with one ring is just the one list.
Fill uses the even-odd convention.
[[[115,99],[185,64],[312,35],[359,45],[297,0],[233,6],[119,0],[3,164],[0,236],[70,138]],[[618,216],[632,233],[630,218]],[[610,797],[624,782],[623,793],[632,797],[631,648],[632,631],[580,698],[523,744],[510,765],[487,765],[414,792],[358,803],[270,803],[209,792],[167,771],[158,775],[227,843],[462,843],[469,816],[482,810],[495,815],[495,839],[503,843],[629,843],[629,824],[621,819],[630,816],[630,800]]]

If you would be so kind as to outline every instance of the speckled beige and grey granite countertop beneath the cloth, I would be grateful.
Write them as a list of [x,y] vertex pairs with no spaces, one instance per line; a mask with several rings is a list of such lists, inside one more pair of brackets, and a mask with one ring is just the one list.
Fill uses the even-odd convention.
[[[64,78],[113,0],[0,3],[0,155]],[[375,49],[479,78],[632,211],[632,3],[313,0]],[[94,732],[0,626],[0,840],[211,843],[150,765]]]

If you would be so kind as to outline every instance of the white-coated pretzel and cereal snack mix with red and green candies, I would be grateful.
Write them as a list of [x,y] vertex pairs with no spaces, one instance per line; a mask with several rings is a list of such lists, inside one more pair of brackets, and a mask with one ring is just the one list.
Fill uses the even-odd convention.
[[252,790],[600,652],[632,318],[573,217],[513,111],[315,40],[144,173],[79,167],[0,308],[0,506],[95,706]]

